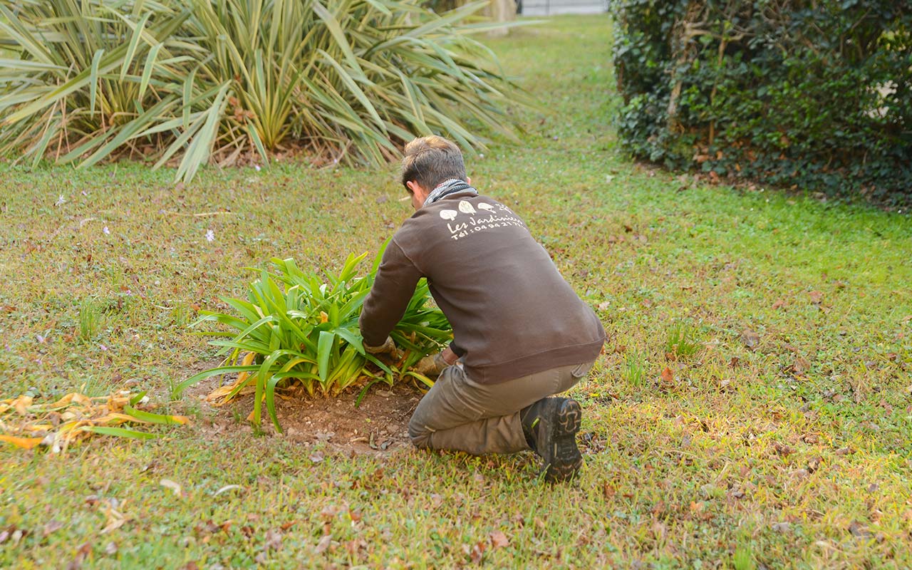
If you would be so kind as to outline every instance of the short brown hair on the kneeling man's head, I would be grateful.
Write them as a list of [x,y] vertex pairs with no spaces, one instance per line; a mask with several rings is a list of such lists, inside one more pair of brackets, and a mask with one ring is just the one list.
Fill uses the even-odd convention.
[[[402,185],[416,181],[428,192],[440,182],[456,178],[465,181],[465,163],[462,152],[451,141],[430,135],[420,137],[405,145],[402,157]],[[409,190],[409,192],[411,192]]]

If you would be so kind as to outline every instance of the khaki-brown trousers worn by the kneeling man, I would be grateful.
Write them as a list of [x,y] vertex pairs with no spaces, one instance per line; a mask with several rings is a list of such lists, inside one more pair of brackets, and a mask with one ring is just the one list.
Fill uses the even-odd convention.
[[520,410],[571,389],[592,365],[552,368],[499,384],[474,382],[459,366],[444,368],[412,414],[409,437],[422,449],[472,455],[528,450]]

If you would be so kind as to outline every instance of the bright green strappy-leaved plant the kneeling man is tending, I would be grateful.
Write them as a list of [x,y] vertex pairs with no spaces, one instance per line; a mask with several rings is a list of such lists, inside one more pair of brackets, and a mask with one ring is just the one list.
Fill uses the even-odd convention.
[[202,311],[193,323],[216,322],[239,332],[204,333],[223,337],[211,344],[221,347],[219,354],[226,355],[225,362],[186,379],[176,394],[203,378],[237,373],[237,380],[216,394],[232,399],[252,387],[254,424],[260,423],[265,401],[276,430],[281,430],[275,415],[276,388],[300,383],[311,395],[319,391],[331,396],[359,380],[365,380],[366,390],[376,381],[391,385],[396,378],[406,377],[430,386],[429,378],[409,368],[444,347],[452,337],[451,326],[439,309],[428,306],[430,292],[422,280],[390,335],[402,351],[399,358],[384,362],[368,354],[358,317],[380,257],[368,275],[358,276],[358,264],[366,256],[349,255],[338,274],[324,272],[322,277],[301,270],[292,259],[273,259],[275,273],[260,270],[246,299],[222,297],[235,314]]

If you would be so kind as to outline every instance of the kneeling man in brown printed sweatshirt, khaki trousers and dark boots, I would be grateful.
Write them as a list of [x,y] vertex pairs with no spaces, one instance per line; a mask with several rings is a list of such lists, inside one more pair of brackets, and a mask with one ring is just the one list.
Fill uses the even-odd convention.
[[439,378],[409,421],[412,442],[475,455],[531,449],[547,481],[565,481],[582,464],[581,409],[551,396],[586,376],[605,331],[523,220],[471,182],[451,141],[406,146],[402,184],[416,212],[390,240],[365,299],[364,345],[395,350],[389,332],[427,277],[453,342],[424,360]]

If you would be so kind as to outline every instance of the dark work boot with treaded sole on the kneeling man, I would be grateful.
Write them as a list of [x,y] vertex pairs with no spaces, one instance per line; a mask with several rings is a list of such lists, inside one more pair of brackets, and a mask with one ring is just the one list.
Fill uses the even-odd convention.
[[540,399],[520,412],[525,440],[542,458],[545,481],[573,479],[583,465],[576,447],[582,418],[579,402],[569,398]]

